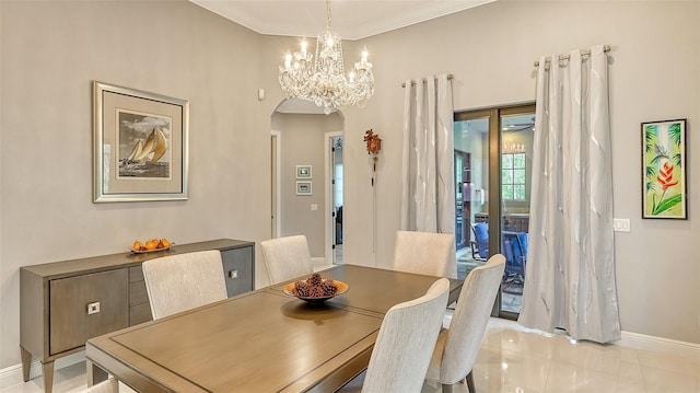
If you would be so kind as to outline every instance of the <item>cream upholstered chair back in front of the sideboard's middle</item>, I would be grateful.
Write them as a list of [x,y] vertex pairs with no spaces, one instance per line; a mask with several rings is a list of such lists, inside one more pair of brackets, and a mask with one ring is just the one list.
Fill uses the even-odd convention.
[[142,267],[154,320],[228,298],[218,250],[149,259]]

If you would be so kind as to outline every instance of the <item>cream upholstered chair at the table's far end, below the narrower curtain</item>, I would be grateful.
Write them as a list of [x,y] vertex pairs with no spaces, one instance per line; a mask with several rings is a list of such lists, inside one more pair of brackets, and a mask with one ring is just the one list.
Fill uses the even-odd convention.
[[397,231],[394,240],[395,270],[457,278],[455,235]]

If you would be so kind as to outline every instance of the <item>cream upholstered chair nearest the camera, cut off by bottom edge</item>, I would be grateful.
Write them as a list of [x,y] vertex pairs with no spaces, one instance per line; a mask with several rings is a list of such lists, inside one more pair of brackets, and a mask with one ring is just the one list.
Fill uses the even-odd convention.
[[362,393],[420,392],[447,307],[450,280],[389,309],[370,357]]

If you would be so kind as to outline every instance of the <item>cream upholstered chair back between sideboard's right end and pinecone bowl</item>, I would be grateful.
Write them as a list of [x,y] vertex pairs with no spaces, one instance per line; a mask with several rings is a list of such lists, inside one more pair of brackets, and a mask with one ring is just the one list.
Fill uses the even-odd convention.
[[314,273],[308,242],[304,235],[269,239],[260,242],[270,284]]

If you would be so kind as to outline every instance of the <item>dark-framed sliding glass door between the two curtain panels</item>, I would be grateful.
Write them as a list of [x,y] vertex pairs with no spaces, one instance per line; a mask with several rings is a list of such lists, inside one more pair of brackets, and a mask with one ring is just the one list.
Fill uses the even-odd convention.
[[524,105],[456,113],[454,123],[458,277],[505,255],[497,310],[512,319],[525,277],[534,118],[535,105]]

